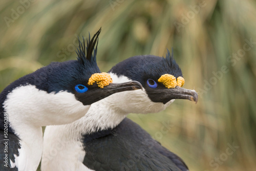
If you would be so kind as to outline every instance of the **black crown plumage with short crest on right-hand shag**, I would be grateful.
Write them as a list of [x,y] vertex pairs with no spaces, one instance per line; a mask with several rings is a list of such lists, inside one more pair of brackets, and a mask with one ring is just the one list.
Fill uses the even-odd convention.
[[173,53],[167,50],[166,57],[154,55],[134,56],[119,62],[109,72],[118,76],[124,75],[142,85],[147,79],[157,81],[163,74],[171,74],[176,78],[182,77],[182,72],[176,63]]

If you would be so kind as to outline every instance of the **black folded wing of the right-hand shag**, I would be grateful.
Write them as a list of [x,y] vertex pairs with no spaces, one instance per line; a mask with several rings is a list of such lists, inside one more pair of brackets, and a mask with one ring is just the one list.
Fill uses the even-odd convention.
[[172,152],[127,118],[110,134],[91,141],[86,139],[84,135],[83,164],[93,170],[182,170],[176,165],[178,158],[170,155]]

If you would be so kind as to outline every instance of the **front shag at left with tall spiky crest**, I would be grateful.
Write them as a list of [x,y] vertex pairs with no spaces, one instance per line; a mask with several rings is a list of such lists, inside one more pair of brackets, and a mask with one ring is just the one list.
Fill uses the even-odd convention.
[[71,123],[100,99],[142,88],[135,81],[110,83],[111,77],[100,73],[99,33],[89,37],[87,48],[79,41],[77,60],[53,62],[12,82],[0,94],[0,170],[36,170],[43,148],[41,126]]

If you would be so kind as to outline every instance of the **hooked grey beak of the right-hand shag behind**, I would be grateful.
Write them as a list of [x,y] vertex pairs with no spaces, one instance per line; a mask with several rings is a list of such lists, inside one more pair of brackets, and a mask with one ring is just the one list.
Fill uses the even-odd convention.
[[154,92],[148,92],[148,96],[154,102],[162,102],[167,103],[172,99],[187,99],[190,101],[198,101],[198,94],[194,90],[188,90],[176,86],[174,89],[159,89],[155,90]]

